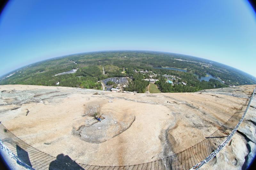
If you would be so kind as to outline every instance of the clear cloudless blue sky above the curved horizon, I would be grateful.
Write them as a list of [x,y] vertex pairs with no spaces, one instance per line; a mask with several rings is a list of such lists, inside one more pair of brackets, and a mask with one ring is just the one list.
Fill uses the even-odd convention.
[[13,0],[0,16],[0,75],[56,56],[122,49],[193,55],[256,76],[255,13],[244,0]]

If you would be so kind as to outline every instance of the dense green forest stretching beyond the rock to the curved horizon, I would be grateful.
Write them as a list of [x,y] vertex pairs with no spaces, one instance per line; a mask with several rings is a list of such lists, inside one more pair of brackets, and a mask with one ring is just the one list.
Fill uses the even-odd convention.
[[[124,57],[126,56],[126,57]],[[75,61],[77,64],[73,63]],[[152,66],[170,66],[187,68],[187,72],[155,69]],[[103,75],[102,67],[105,73]],[[54,76],[61,72],[77,69],[74,74]],[[123,69],[125,72],[122,73]],[[201,89],[227,87],[227,85],[256,84],[255,78],[232,67],[220,63],[211,62],[191,56],[172,53],[157,53],[148,51],[108,51],[76,54],[65,57],[53,58],[47,61],[38,62],[15,71],[15,74],[0,79],[0,85],[23,84],[23,85],[49,85],[54,86],[60,82],[60,86],[84,87],[100,89],[97,81],[108,77],[133,76],[133,81],[126,90],[144,92],[148,82],[142,80],[149,78],[148,74],[134,74],[133,70],[148,70],[155,74],[169,74],[180,77],[174,82],[186,82],[187,85],[166,84],[164,80],[158,82],[162,92],[194,92]],[[198,81],[197,77],[209,73],[212,76],[220,77],[225,85],[217,80],[209,82]],[[161,78],[159,75],[156,78]]]

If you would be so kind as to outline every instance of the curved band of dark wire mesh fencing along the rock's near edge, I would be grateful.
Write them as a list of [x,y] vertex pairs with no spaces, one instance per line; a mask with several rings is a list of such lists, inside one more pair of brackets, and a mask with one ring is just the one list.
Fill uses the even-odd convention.
[[193,166],[194,168],[197,168],[195,165],[198,165],[199,162],[204,161],[205,158],[209,157],[209,155],[218,150],[218,147],[220,148],[220,146],[223,144],[223,141],[225,141],[227,137],[230,136],[232,130],[237,128],[236,126],[239,125],[239,122],[243,120],[249,107],[247,104],[249,103],[248,101],[250,98],[252,99],[252,96],[248,97],[244,104],[232,115],[232,117],[230,117],[227,122],[225,122],[218,130],[212,133],[212,135],[205,137],[203,141],[182,152],[148,163],[129,166],[94,166],[76,163],[67,155],[64,156],[63,154],[60,154],[57,157],[53,157],[22,141],[20,138],[12,134],[12,132],[6,129],[3,124],[0,124],[0,139],[2,141],[1,148],[6,146],[10,152],[12,152],[20,159],[20,161],[17,160],[17,163],[20,165],[26,164],[32,167],[31,169],[180,170],[190,169],[193,168]]

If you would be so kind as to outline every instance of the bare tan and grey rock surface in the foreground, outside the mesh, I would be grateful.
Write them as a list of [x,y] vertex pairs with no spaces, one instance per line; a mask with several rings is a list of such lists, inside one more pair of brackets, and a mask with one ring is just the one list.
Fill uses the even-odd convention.
[[[21,140],[54,157],[68,155],[77,164],[135,165],[179,153],[211,136],[241,109],[254,87],[134,95],[2,85],[0,121]],[[255,101],[232,141],[203,168],[249,165],[256,148]],[[88,114],[95,104],[101,107],[101,122]],[[52,164],[56,162],[61,161]]]

